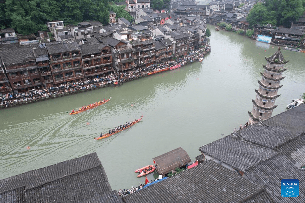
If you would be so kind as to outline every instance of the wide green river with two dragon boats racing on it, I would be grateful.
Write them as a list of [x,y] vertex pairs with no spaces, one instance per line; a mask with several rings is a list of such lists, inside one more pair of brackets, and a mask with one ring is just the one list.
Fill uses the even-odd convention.
[[[137,178],[134,170],[152,164],[153,157],[182,147],[194,161],[199,147],[245,124],[264,57],[277,47],[208,27],[212,51],[202,63],[115,88],[0,110],[0,179],[96,152],[113,190],[135,187],[145,177]],[[282,50],[282,54],[289,60],[288,70],[273,115],[305,92],[304,53]],[[110,96],[109,102],[95,109],[66,113]],[[128,130],[93,139],[141,115],[143,119]],[[152,174],[148,178],[152,180]]]

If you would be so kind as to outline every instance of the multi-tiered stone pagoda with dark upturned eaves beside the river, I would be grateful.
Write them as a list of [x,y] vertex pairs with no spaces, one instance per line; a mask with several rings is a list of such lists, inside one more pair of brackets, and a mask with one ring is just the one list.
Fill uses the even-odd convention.
[[252,111],[248,111],[250,116],[249,125],[271,117],[273,109],[277,107],[277,105],[274,105],[275,99],[280,96],[278,95],[278,89],[282,87],[280,85],[281,80],[284,79],[282,73],[287,70],[284,65],[288,61],[284,59],[280,48],[271,57],[265,57],[265,59],[267,65],[263,65],[265,71],[260,73],[262,79],[261,81],[258,80],[259,89],[255,90],[257,96],[255,100],[252,100]]

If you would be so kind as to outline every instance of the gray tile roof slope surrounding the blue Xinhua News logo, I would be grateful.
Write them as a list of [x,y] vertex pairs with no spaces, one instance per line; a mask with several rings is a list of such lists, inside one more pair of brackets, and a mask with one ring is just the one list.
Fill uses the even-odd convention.
[[[305,180],[304,171],[296,168],[294,163],[289,161],[284,155],[280,154],[264,163],[254,167],[247,173],[250,181],[259,185],[265,185],[266,191],[269,192],[274,202],[305,202],[304,191],[305,185],[299,185],[300,196],[298,199],[282,197],[280,183],[283,178],[297,178]],[[300,181],[301,183],[301,181]]]

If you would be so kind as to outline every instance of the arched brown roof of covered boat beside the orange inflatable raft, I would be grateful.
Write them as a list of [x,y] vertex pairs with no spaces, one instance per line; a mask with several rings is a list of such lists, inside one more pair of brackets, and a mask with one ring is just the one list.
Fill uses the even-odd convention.
[[171,170],[185,166],[191,162],[188,153],[186,153],[186,151],[181,147],[152,159],[154,160],[154,163],[156,163],[156,170],[160,175],[165,175]]

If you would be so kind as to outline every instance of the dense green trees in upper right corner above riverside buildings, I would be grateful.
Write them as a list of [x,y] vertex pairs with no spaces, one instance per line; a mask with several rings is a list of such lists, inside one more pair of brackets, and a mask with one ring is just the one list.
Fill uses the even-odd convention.
[[300,18],[305,10],[305,0],[266,0],[257,3],[247,16],[249,26],[256,23],[290,27],[291,22]]

